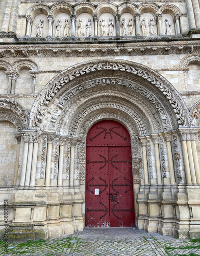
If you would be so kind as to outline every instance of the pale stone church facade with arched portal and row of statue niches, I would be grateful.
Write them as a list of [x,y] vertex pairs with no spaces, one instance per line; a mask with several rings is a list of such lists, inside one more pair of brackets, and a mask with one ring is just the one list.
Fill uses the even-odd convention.
[[[134,211],[138,229],[199,236],[199,13],[198,0],[1,1],[2,238],[4,200],[10,241],[83,230],[97,211],[99,220]],[[88,160],[88,132],[102,121],[128,131],[131,160]],[[89,141],[125,138],[118,128],[96,127]],[[110,163],[130,161],[133,182],[92,183]],[[117,208],[122,186],[130,209]],[[100,204],[90,209],[94,187]],[[98,200],[103,188],[115,211]]]

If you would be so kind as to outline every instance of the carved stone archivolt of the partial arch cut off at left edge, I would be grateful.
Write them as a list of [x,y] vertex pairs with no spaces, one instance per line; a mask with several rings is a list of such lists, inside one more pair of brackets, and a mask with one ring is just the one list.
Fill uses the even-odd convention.
[[0,112],[0,120],[11,121],[18,130],[29,129],[29,112],[15,100],[0,98]]

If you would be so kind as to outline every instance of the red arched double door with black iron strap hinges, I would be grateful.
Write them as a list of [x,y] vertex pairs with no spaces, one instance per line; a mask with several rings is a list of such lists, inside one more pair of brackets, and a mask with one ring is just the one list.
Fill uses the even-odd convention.
[[95,123],[86,140],[86,227],[135,225],[131,140],[120,123]]

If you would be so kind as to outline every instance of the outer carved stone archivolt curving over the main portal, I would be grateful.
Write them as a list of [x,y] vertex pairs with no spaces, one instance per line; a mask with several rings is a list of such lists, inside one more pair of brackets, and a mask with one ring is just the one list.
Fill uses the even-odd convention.
[[[46,115],[47,110],[50,110],[51,105],[56,98],[56,102],[58,103],[58,97],[60,98],[59,94],[64,90],[66,91],[74,80],[76,80],[76,82],[80,79],[82,81],[90,81],[90,79],[88,79],[88,75],[94,75],[97,77],[99,75],[107,76],[107,73],[110,71],[112,71],[112,73],[116,72],[117,76],[120,74],[127,74],[132,77],[132,80],[139,79],[141,83],[144,82],[145,84],[148,84],[161,96],[163,101],[166,102],[168,108],[173,113],[177,126],[186,126],[189,123],[189,114],[183,99],[172,85],[157,72],[134,62],[123,60],[109,60],[108,62],[102,62],[102,60],[93,60],[70,67],[66,71],[63,71],[54,77],[45,86],[36,98],[30,114],[32,127],[41,127],[43,117]],[[132,86],[130,86],[130,89],[132,89]],[[129,84],[127,87],[129,87]],[[84,89],[83,87],[74,89],[74,91],[71,91],[68,95],[66,94],[64,96],[65,100],[72,99],[74,95],[77,95]],[[153,103],[155,99],[154,97],[152,98],[152,96],[149,95],[146,96],[146,98],[148,98],[149,102],[155,104],[156,107],[156,103]],[[64,108],[62,100],[58,107],[61,109]],[[164,113],[162,114],[164,115]]]

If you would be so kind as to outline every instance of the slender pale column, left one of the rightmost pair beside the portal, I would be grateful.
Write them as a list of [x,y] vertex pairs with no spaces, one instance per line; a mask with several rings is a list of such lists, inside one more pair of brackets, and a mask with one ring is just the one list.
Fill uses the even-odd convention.
[[191,175],[190,175],[190,165],[188,159],[187,143],[186,143],[186,133],[180,133],[182,151],[183,151],[183,161],[185,166],[185,176],[187,184],[192,184]]

